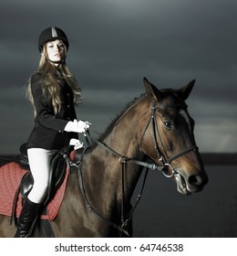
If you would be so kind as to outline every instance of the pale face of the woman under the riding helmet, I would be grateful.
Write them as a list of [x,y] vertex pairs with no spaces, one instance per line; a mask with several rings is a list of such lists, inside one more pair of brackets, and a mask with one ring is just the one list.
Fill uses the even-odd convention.
[[62,40],[55,40],[46,43],[46,52],[51,61],[61,61],[65,59],[65,45]]

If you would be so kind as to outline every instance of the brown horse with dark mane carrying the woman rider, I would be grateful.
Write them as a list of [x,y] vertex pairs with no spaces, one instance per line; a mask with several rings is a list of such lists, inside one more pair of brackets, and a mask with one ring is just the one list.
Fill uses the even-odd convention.
[[[146,93],[131,101],[72,170],[57,218],[56,237],[132,235],[130,204],[144,166],[171,177],[183,195],[207,184],[195,144],[194,121],[187,111],[195,80],[180,90],[158,90],[144,79]],[[0,237],[13,237],[15,226],[0,216]],[[34,237],[43,237],[40,225]]]

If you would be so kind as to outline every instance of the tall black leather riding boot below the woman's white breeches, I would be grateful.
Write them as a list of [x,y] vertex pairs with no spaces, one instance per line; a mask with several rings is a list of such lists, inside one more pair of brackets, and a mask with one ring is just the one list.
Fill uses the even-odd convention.
[[31,235],[36,224],[38,210],[41,204],[31,202],[27,197],[18,219],[15,238],[27,238]]

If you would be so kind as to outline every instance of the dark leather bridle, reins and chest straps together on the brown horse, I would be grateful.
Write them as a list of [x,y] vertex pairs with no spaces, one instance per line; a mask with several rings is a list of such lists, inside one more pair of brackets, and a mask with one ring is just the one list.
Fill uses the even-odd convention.
[[[135,209],[137,208],[138,204],[139,204],[139,199],[142,195],[142,192],[143,192],[143,188],[145,186],[145,183],[146,183],[146,178],[147,178],[147,174],[148,174],[148,170],[151,169],[151,170],[155,170],[155,171],[161,171],[162,174],[166,177],[172,177],[176,174],[179,174],[178,171],[175,170],[175,168],[171,165],[171,162],[174,160],[174,159],[177,159],[179,158],[181,155],[185,155],[191,151],[197,151],[198,150],[198,147],[197,145],[192,145],[191,147],[188,147],[184,150],[182,150],[180,153],[178,154],[175,154],[175,155],[172,155],[172,156],[168,156],[167,155],[167,152],[164,148],[164,145],[162,144],[162,140],[161,140],[161,136],[160,136],[160,131],[159,131],[159,126],[158,126],[158,123],[157,123],[157,120],[156,120],[156,117],[155,117],[155,113],[157,110],[161,110],[161,109],[167,109],[167,108],[175,108],[175,109],[183,109],[183,108],[187,108],[187,105],[185,104],[182,104],[182,105],[175,105],[175,106],[155,106],[155,104],[153,103],[152,104],[152,107],[151,107],[151,114],[150,114],[150,117],[149,117],[149,122],[145,128],[145,131],[143,133],[143,136],[142,138],[144,137],[145,133],[147,132],[148,130],[148,127],[149,127],[149,123],[151,123],[151,126],[152,126],[152,136],[153,136],[153,141],[154,141],[154,144],[155,144],[155,150],[156,150],[156,153],[159,157],[159,160],[160,160],[160,163],[161,165],[155,165],[155,164],[150,164],[148,162],[144,162],[144,161],[139,161],[139,160],[136,160],[136,159],[132,159],[132,158],[129,158],[127,156],[124,156],[124,155],[120,155],[118,154],[118,152],[114,151],[112,148],[110,148],[107,144],[104,144],[100,141],[93,141],[89,132],[85,133],[85,136],[86,136],[86,139],[87,139],[87,143],[88,143],[88,147],[90,147],[92,144],[98,144],[99,146],[101,146],[102,148],[104,148],[105,150],[107,150],[110,154],[113,154],[113,155],[117,155],[118,156],[118,161],[120,163],[120,165],[122,165],[122,192],[121,192],[121,224],[118,225],[116,223],[113,223],[111,222],[109,219],[105,219],[103,216],[101,216],[98,211],[93,208],[91,206],[91,204],[89,203],[89,200],[88,200],[88,197],[87,197],[87,193],[86,193],[86,190],[85,190],[85,187],[84,187],[84,183],[83,183],[83,176],[82,176],[82,170],[81,170],[81,164],[82,164],[82,159],[83,159],[83,155],[85,155],[87,148],[84,149],[84,153],[81,155],[80,159],[77,161],[77,163],[73,163],[73,162],[70,162],[68,160],[68,157],[67,155],[64,155],[64,158],[67,160],[67,165],[75,165],[77,166],[77,170],[78,170],[78,177],[79,177],[79,187],[80,187],[80,190],[82,192],[82,195],[86,201],[86,204],[87,204],[87,208],[93,212],[94,214],[96,214],[98,216],[99,219],[102,219],[104,221],[106,221],[108,223],[108,225],[110,225],[111,227],[115,228],[115,229],[118,229],[120,235],[122,233],[124,233],[126,236],[129,237],[129,232],[127,230],[127,224],[129,223],[129,220],[132,218],[133,216],[133,213],[135,211]],[[161,154],[160,152],[160,148],[159,148],[159,143],[158,143],[158,138],[159,138],[159,142],[160,142],[160,146],[162,147],[162,152],[163,154]],[[68,163],[69,161],[69,163]],[[142,186],[141,186],[141,189],[140,189],[140,192],[139,192],[139,196],[137,197],[137,201],[135,203],[135,205],[130,209],[129,211],[129,214],[127,215],[127,217],[125,218],[124,217],[124,195],[125,195],[125,171],[126,171],[126,168],[127,168],[127,164],[128,163],[132,163],[132,164],[135,164],[135,165],[140,165],[142,167],[145,167],[147,170],[146,170],[146,173],[145,173],[145,176],[144,176],[144,179],[143,179],[143,183],[142,183]],[[168,174],[168,169],[169,167],[171,168],[171,175]]]

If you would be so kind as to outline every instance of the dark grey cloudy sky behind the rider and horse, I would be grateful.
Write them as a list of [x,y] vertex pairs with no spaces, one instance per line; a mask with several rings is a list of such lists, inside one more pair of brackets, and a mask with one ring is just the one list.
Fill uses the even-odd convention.
[[0,154],[15,154],[33,127],[23,87],[37,68],[37,39],[61,27],[67,64],[83,90],[80,119],[102,133],[144,91],[196,84],[188,100],[201,152],[237,151],[236,0],[2,0]]

